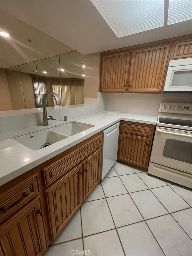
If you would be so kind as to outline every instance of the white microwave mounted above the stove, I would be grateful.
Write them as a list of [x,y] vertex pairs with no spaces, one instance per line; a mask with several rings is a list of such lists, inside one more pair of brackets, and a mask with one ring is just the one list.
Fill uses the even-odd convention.
[[176,59],[169,62],[164,92],[192,91],[192,59]]

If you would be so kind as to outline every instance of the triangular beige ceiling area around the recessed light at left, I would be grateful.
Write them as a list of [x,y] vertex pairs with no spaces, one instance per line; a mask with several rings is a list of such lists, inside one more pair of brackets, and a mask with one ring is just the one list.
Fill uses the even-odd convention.
[[[9,38],[0,37],[0,68],[10,68],[73,50],[2,10],[0,31],[10,34]],[[27,39],[32,40],[31,44]]]

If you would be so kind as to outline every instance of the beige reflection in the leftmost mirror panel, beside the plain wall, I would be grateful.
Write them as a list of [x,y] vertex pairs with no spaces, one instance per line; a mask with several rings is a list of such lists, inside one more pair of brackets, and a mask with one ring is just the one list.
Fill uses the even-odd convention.
[[9,85],[9,91],[11,96],[11,101],[13,105],[13,110],[15,109],[25,109],[25,101],[22,93],[22,87],[19,77],[19,72],[13,70],[7,70],[7,82]]

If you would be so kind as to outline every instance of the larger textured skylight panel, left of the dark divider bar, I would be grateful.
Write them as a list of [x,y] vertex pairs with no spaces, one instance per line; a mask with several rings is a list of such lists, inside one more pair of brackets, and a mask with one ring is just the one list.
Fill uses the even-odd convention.
[[91,0],[120,38],[164,26],[164,0]]

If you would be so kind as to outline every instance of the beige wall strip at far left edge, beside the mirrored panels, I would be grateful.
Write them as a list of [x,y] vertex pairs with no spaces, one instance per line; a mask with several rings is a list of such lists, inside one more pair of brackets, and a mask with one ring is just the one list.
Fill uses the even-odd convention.
[[13,110],[5,70],[0,68],[0,111]]

